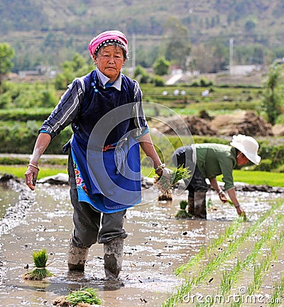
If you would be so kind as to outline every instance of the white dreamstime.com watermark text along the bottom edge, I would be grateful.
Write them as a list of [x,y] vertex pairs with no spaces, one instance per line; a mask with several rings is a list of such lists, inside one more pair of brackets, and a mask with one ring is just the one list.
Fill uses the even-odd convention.
[[246,293],[246,287],[241,287],[239,293],[234,293],[228,296],[221,294],[217,295],[202,295],[201,293],[192,294],[188,293],[182,298],[183,303],[245,303],[245,304],[256,304],[256,303],[282,303],[284,298],[270,298],[261,294],[249,295]]

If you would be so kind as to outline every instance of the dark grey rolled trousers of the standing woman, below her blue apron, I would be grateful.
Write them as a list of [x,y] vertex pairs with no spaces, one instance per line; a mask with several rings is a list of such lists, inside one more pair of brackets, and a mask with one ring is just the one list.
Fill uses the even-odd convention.
[[89,203],[80,202],[78,200],[77,184],[71,153],[68,159],[68,175],[70,198],[74,208],[72,245],[75,247],[90,247],[96,242],[107,243],[116,237],[125,239],[127,234],[123,226],[126,210],[114,213],[102,213],[95,210]]

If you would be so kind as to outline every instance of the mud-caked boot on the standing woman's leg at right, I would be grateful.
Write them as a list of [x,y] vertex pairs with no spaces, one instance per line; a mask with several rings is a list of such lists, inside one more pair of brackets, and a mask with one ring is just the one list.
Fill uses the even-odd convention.
[[108,279],[117,279],[124,254],[124,239],[115,238],[104,243],[104,273]]

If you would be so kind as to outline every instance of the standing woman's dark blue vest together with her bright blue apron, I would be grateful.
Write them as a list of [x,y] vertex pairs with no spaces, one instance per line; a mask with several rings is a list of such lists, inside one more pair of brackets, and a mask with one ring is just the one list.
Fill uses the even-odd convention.
[[[139,144],[131,136],[135,128],[131,118],[134,85],[125,75],[121,81],[119,91],[100,87],[95,71],[84,76],[84,99],[72,122],[72,154],[87,195],[94,200],[89,203],[102,212],[124,210],[141,202]],[[119,112],[121,107],[123,112]],[[102,151],[104,146],[118,141],[116,147]],[[102,196],[99,206],[97,195]]]

